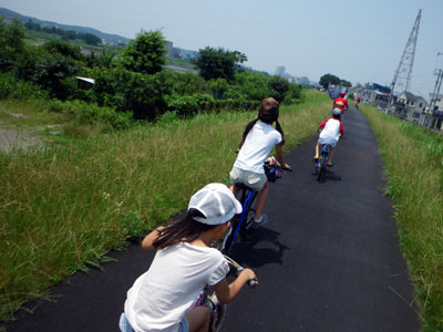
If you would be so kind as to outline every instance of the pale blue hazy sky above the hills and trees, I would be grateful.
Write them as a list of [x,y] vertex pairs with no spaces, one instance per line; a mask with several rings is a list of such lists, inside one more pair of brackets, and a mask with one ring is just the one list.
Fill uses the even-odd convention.
[[161,29],[175,46],[240,51],[246,65],[318,81],[331,73],[390,85],[419,10],[411,92],[427,98],[442,68],[443,0],[0,0],[41,20],[127,38]]

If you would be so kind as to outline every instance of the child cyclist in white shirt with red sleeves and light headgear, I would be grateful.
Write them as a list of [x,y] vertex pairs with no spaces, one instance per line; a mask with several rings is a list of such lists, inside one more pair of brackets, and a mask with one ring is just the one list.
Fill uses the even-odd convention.
[[332,157],[333,157],[333,151],[337,145],[337,142],[341,136],[344,134],[343,129],[343,123],[341,122],[341,110],[340,108],[333,108],[331,112],[332,117],[327,118],[323,121],[318,131],[320,132],[318,143],[316,145],[316,155],[313,156],[312,162],[317,163],[319,159],[319,154],[320,154],[320,145],[328,144],[331,146],[331,149],[329,151],[329,159],[328,159],[328,166],[332,167]]

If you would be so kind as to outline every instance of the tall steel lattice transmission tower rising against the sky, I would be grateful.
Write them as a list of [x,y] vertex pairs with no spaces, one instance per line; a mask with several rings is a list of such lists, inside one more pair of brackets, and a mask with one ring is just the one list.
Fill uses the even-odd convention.
[[415,58],[415,46],[416,40],[419,38],[419,27],[420,19],[422,17],[422,10],[419,10],[419,14],[416,15],[414,27],[412,28],[411,34],[408,39],[406,46],[404,48],[402,58],[400,59],[399,66],[396,68],[394,79],[391,83],[391,93],[389,95],[388,107],[391,105],[394,90],[402,93],[403,91],[409,91],[411,85],[411,76],[412,76],[412,68],[414,66],[414,58]]

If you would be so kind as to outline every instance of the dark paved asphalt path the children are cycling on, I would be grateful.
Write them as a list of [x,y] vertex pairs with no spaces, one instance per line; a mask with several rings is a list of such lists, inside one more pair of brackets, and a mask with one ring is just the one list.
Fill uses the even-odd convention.
[[[229,304],[224,332],[420,331],[375,137],[352,107],[343,123],[326,183],[313,176],[317,137],[288,154],[293,172],[271,185],[269,222],[233,253],[260,284]],[[7,331],[119,331],[126,290],[153,255],[131,246],[112,257],[104,271],[54,287],[54,302],[30,303]]]

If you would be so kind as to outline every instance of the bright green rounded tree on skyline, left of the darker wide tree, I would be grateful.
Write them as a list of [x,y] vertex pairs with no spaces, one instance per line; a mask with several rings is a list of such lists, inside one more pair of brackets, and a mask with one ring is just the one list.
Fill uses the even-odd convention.
[[130,71],[155,74],[165,64],[166,41],[161,31],[143,31],[122,52],[123,66]]

